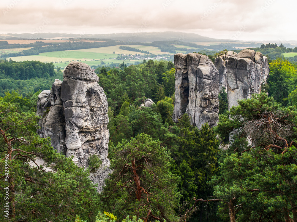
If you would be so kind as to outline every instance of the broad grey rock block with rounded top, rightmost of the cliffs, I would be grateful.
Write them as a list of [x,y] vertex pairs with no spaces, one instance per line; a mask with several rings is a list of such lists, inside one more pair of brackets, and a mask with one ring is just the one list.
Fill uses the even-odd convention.
[[228,108],[238,105],[238,100],[249,99],[261,92],[269,74],[268,59],[260,52],[244,49],[227,60]]

